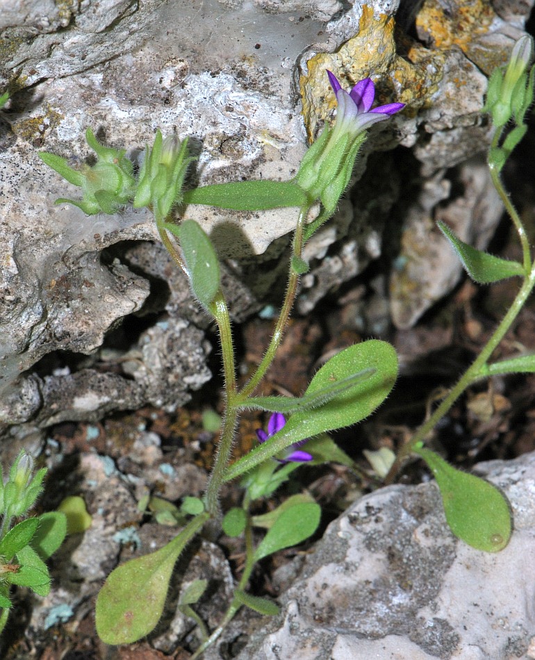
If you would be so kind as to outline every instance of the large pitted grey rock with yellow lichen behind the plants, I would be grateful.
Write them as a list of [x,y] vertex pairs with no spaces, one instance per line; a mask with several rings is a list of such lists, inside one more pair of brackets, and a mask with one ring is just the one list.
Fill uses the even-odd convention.
[[[149,214],[87,218],[76,208],[53,206],[56,197],[76,192],[37,151],[79,163],[89,155],[87,126],[110,146],[129,147],[133,158],[157,127],[190,135],[201,183],[288,179],[306,135],[315,135],[334,108],[324,69],[334,69],[347,85],[371,74],[381,101],[400,99],[408,108],[388,128],[373,131],[354,181],[366,163],[370,167],[354,199],[341,204],[331,226],[308,245],[311,271],[297,307],[310,310],[377,258],[393,214],[404,228],[392,284],[395,322],[410,326],[454,285],[461,271],[447,243],[420,240],[443,199],[437,189],[459,182],[463,190],[448,206],[450,220],[464,236],[479,232],[479,215],[468,211],[473,195],[487,194],[488,181],[481,168],[473,176],[455,168],[488,141],[479,115],[486,75],[522,33],[529,6],[513,11],[500,3],[507,23],[484,0],[471,3],[470,12],[461,1],[446,11],[427,0],[416,17],[420,41],[395,28],[398,6],[385,0],[7,3],[0,85],[13,98],[0,117],[0,432],[9,424],[46,426],[112,409],[102,391],[109,383],[100,377],[110,349],[118,407],[181,404],[209,377],[208,346],[199,335],[206,320],[192,311],[187,295],[179,302],[169,292],[175,276],[168,261],[161,264]],[[411,149],[410,158],[384,154],[396,145]],[[418,204],[402,212],[402,190],[415,179]],[[295,209],[188,209],[231,260],[227,290],[238,318],[280,286],[295,215]],[[485,236],[498,215],[496,204]],[[146,267],[134,263],[135,243],[154,250],[144,256]],[[160,262],[158,274],[147,265],[153,261]],[[444,273],[441,286],[429,277],[436,270]],[[183,281],[179,288],[187,292]],[[123,333],[120,347],[110,346],[110,337],[137,317],[150,319],[153,328],[140,333],[138,324]],[[154,327],[167,317],[169,334]],[[170,358],[167,349],[183,353]],[[131,364],[126,354],[145,366],[123,372],[122,365]],[[154,356],[161,368],[153,375],[146,361]],[[87,384],[81,407],[73,398],[76,379]]]

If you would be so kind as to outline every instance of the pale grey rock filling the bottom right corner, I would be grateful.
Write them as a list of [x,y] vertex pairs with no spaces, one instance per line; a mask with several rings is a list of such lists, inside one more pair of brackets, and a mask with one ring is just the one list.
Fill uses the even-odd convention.
[[534,658],[535,454],[475,471],[511,502],[502,552],[452,536],[434,482],[379,490],[329,525],[239,660]]

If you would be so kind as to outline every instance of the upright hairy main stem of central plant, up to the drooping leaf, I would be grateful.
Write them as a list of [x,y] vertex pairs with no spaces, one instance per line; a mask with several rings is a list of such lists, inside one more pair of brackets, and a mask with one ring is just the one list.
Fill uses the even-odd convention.
[[225,382],[225,415],[221,431],[219,445],[215,454],[215,461],[208,487],[206,488],[206,507],[210,515],[215,518],[219,513],[218,494],[223,482],[224,470],[227,468],[231,456],[232,445],[235,436],[236,423],[238,422],[238,409],[236,408],[236,366],[234,363],[234,347],[229,309],[222,291],[219,290],[214,302],[211,304],[219,330],[221,351],[223,359],[223,372]]

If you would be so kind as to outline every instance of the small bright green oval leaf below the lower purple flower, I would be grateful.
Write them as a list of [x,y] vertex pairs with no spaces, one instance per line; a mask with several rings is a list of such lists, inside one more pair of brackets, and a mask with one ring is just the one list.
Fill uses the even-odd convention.
[[256,548],[254,561],[305,541],[318,529],[320,515],[320,506],[315,502],[295,504],[283,511]]

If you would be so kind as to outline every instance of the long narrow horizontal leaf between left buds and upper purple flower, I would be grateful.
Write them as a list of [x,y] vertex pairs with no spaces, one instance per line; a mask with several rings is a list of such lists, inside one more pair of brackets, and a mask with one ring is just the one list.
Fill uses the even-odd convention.
[[206,204],[235,211],[265,211],[284,206],[305,206],[306,194],[291,181],[238,181],[187,190],[184,204]]

